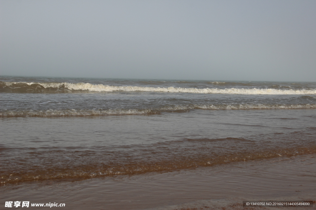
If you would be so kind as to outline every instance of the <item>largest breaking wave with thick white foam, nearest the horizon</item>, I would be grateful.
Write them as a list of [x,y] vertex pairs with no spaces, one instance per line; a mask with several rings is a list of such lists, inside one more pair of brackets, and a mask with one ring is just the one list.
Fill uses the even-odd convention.
[[169,92],[169,93],[200,93],[200,94],[264,94],[264,95],[306,95],[316,94],[316,89],[273,89],[273,88],[176,88],[176,87],[142,87],[142,86],[109,86],[90,83],[57,83],[57,82],[0,82],[0,92]]

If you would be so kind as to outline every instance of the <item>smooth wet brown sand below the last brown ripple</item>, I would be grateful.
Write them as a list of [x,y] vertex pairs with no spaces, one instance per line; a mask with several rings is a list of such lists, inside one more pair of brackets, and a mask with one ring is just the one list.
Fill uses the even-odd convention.
[[0,200],[65,203],[66,209],[241,209],[243,200],[315,200],[315,165],[312,154],[167,173],[8,184],[1,187]]

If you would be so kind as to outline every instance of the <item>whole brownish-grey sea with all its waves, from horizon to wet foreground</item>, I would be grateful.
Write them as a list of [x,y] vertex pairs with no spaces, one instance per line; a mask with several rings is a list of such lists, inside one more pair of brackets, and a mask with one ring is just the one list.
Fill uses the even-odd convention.
[[315,108],[316,82],[1,76],[0,205],[315,200]]

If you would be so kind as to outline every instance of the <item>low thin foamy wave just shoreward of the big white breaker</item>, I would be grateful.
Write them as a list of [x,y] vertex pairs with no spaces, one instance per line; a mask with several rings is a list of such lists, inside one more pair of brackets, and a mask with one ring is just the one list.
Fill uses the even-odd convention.
[[68,109],[68,110],[1,110],[3,116],[97,116],[97,115],[140,115],[159,114],[161,112],[183,112],[192,109],[204,110],[250,110],[250,109],[309,109],[316,104],[282,105],[282,104],[211,104],[211,105],[173,105],[158,109]]

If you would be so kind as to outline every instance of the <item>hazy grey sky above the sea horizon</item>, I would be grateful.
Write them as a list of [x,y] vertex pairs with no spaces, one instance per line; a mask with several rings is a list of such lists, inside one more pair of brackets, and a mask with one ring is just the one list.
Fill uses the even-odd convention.
[[315,11],[315,0],[0,0],[0,75],[316,81]]

